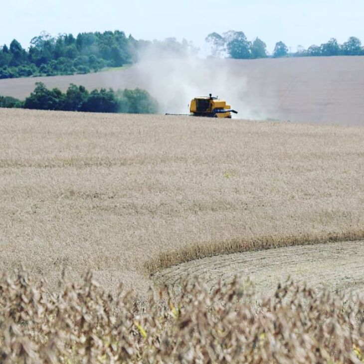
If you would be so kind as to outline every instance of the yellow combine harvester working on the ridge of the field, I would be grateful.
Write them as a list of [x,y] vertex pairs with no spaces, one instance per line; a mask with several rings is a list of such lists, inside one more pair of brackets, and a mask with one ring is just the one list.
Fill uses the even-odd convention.
[[166,115],[192,115],[204,116],[208,118],[229,118],[231,113],[237,114],[238,112],[231,109],[230,105],[226,105],[226,101],[219,100],[217,97],[195,97],[191,100],[189,106],[190,114],[166,114]]

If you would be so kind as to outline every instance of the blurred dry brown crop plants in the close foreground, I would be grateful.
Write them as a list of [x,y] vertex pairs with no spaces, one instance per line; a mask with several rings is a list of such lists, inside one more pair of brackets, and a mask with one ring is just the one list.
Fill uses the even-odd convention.
[[361,363],[364,298],[287,282],[270,297],[234,279],[149,300],[15,271],[0,280],[1,363]]

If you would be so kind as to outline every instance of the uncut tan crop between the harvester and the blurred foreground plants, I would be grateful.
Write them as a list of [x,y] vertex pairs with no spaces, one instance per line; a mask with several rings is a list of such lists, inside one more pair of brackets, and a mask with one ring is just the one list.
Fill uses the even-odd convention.
[[90,269],[143,294],[195,258],[364,238],[362,127],[1,109],[0,135],[0,270],[50,289]]

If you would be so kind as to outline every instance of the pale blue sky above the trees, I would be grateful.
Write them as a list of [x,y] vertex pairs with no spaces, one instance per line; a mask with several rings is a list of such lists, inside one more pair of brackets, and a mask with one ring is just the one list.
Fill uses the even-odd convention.
[[350,36],[364,43],[364,0],[2,0],[0,44],[33,36],[123,30],[137,39],[185,38],[206,54],[207,34],[233,29],[249,40],[259,36],[272,52],[277,41],[292,51],[340,43]]

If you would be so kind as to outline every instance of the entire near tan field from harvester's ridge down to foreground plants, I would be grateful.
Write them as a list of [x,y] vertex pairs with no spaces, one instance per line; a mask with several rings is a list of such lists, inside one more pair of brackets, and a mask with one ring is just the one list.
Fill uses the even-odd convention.
[[1,109],[0,135],[2,362],[359,363],[363,128]]

